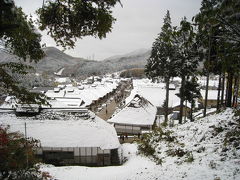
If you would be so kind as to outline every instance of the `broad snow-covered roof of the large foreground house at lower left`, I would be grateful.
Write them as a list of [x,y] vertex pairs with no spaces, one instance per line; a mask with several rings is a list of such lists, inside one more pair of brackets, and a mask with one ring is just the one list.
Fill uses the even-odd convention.
[[27,136],[40,140],[42,147],[115,149],[120,146],[114,127],[97,116],[86,120],[67,117],[63,120],[36,120],[0,114],[0,124],[10,125],[11,131],[24,133],[25,122]]

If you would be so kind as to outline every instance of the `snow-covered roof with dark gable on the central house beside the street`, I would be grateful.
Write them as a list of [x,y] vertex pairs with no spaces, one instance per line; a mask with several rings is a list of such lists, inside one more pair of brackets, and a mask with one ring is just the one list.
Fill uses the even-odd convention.
[[126,107],[108,120],[109,123],[153,125],[157,108],[145,98],[136,95]]

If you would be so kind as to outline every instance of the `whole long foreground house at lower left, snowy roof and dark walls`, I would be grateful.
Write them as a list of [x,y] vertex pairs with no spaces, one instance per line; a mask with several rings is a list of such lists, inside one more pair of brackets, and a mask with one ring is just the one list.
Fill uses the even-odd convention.
[[23,134],[26,123],[27,137],[40,140],[35,153],[45,163],[109,166],[122,162],[114,127],[93,113],[84,118],[65,115],[57,120],[18,119],[14,114],[2,113],[0,123]]

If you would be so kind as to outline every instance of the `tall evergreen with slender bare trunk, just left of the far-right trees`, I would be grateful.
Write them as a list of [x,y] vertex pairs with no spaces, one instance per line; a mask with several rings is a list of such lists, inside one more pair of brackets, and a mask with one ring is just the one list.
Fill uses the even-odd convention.
[[[203,55],[204,59],[204,70],[203,74],[206,76],[206,91],[205,91],[205,106],[203,115],[206,116],[207,109],[207,99],[208,99],[208,86],[209,86],[209,75],[211,72],[217,72],[216,65],[218,62],[216,60],[216,37],[218,34],[218,21],[215,18],[217,10],[216,7],[218,2],[216,0],[203,0],[202,7],[200,8],[200,13],[195,16],[195,22],[198,27],[198,43],[200,44],[199,50]],[[218,65],[217,65],[218,66]],[[214,70],[215,69],[215,70]]]

